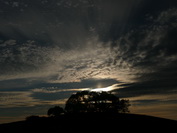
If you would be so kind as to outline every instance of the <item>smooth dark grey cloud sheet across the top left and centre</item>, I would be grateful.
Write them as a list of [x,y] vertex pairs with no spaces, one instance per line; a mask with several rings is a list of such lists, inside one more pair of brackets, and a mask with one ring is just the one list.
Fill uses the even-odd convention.
[[47,41],[67,48],[82,46],[97,34],[108,41],[117,38],[139,1],[1,0],[1,39],[38,40],[43,45]]

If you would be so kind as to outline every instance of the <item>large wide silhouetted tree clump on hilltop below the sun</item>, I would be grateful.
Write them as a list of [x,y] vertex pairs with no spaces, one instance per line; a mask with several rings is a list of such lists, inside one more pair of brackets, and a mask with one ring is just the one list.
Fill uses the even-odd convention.
[[67,100],[65,110],[68,113],[79,112],[129,112],[129,100],[120,100],[108,92],[82,91],[71,95]]

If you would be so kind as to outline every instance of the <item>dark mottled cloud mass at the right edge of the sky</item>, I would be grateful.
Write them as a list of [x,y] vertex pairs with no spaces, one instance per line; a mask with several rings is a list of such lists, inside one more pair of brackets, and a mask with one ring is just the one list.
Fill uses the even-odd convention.
[[176,60],[176,17],[176,9],[163,11],[149,26],[144,25],[120,37],[113,49],[115,59],[123,58],[131,68],[140,70],[158,70],[173,63]]

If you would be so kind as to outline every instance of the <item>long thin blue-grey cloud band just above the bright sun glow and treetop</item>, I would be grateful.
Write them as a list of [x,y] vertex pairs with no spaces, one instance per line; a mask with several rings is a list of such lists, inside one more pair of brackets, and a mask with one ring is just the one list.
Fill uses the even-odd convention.
[[[12,86],[5,86],[7,83],[11,83]],[[21,84],[20,84],[21,83]],[[120,84],[121,81],[117,79],[83,79],[75,82],[46,82],[45,80],[30,80],[30,79],[18,79],[18,80],[7,80],[1,81],[1,91],[13,91],[13,90],[33,90],[34,92],[63,92],[63,91],[76,91],[82,89],[94,89],[94,88],[105,88],[113,84]],[[4,88],[3,88],[4,86]]]

